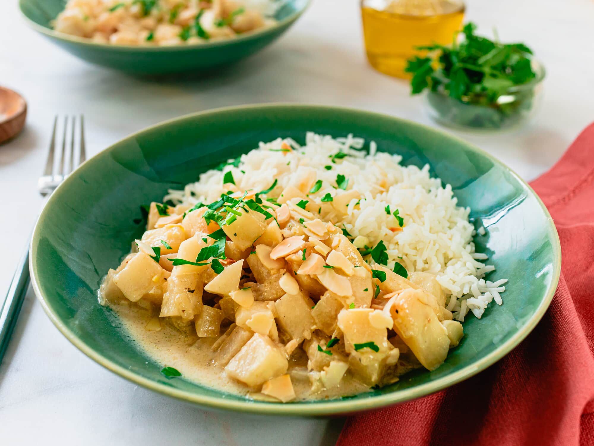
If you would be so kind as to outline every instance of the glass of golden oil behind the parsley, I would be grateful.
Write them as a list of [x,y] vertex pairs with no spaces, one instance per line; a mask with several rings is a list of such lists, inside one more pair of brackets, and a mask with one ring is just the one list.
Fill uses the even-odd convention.
[[448,45],[464,18],[462,0],[361,0],[369,63],[390,76],[409,78],[406,61],[416,46]]

